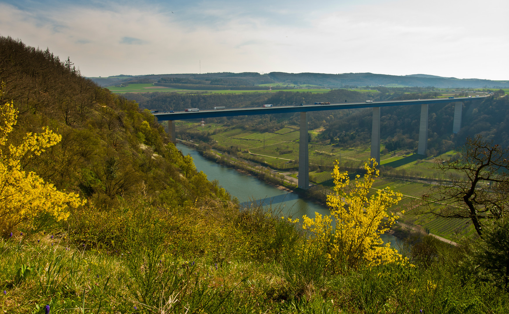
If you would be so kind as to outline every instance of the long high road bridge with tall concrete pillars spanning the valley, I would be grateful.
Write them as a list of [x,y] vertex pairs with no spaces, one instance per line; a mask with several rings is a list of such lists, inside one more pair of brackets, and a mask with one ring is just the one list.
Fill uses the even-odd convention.
[[461,98],[439,98],[439,99],[419,99],[419,100],[401,100],[384,102],[364,102],[364,103],[340,103],[330,105],[280,105],[269,108],[247,107],[247,108],[225,108],[225,109],[200,109],[200,111],[185,112],[158,112],[154,113],[159,121],[168,121],[168,131],[171,133],[172,141],[175,143],[175,120],[199,119],[213,117],[229,117],[239,115],[257,115],[257,114],[276,114],[276,113],[295,113],[300,112],[300,138],[299,138],[299,183],[301,189],[308,189],[308,149],[307,149],[307,112],[325,111],[325,110],[343,110],[358,108],[373,108],[373,128],[371,137],[371,156],[380,164],[380,107],[390,106],[410,106],[421,105],[418,154],[426,154],[428,149],[428,105],[429,104],[455,104],[455,115],[453,122],[453,133],[457,133],[461,128],[461,116],[463,102],[480,101],[488,96],[479,97],[461,97]]

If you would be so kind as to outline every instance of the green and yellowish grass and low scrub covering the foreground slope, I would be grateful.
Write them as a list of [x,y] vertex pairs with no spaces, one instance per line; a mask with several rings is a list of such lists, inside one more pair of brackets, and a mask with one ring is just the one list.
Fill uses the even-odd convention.
[[59,228],[0,239],[4,312],[505,313],[509,305],[498,281],[467,272],[461,248],[426,235],[411,239],[420,250],[401,244],[413,266],[337,273],[327,252],[301,250],[307,238],[277,210],[189,208],[161,219],[146,206],[126,208],[124,246],[83,248]]

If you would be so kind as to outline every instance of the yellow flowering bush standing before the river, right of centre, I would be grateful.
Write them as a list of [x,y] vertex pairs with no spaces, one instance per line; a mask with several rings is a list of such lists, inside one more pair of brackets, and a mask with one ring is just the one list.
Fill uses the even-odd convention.
[[[398,218],[389,215],[387,209],[398,204],[402,195],[386,187],[370,196],[379,173],[376,166],[375,159],[364,163],[366,174],[362,180],[357,175],[352,188],[348,173],[340,172],[336,160],[332,173],[334,193],[327,196],[331,214],[322,216],[315,213],[314,219],[303,217],[303,228],[312,234],[308,245],[322,246],[328,254],[330,266],[337,271],[344,266],[356,268],[362,262],[369,266],[407,262],[389,243],[382,246],[380,235],[389,230]],[[386,222],[382,224],[382,220]]]

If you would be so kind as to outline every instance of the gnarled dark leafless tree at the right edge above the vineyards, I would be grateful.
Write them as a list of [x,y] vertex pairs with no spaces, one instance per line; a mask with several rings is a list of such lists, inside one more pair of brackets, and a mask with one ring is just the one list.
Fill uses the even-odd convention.
[[509,208],[509,148],[493,145],[482,136],[468,137],[448,161],[436,161],[435,169],[449,180],[422,195],[419,213],[469,219],[479,236],[483,219],[498,219]]

